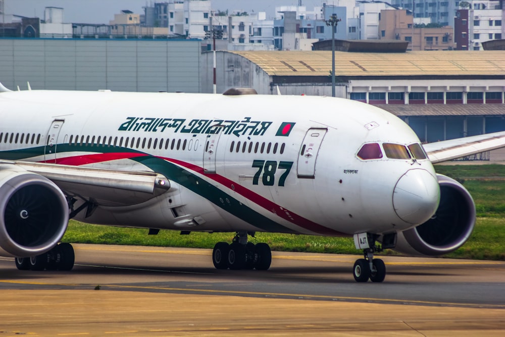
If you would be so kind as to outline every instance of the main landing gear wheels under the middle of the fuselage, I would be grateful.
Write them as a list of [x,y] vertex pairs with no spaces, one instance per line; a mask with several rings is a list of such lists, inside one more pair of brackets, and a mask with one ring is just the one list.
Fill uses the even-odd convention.
[[254,232],[238,231],[233,242],[228,245],[218,242],[212,251],[212,262],[216,269],[256,269],[267,270],[272,262],[272,252],[267,244],[247,242],[247,234]]

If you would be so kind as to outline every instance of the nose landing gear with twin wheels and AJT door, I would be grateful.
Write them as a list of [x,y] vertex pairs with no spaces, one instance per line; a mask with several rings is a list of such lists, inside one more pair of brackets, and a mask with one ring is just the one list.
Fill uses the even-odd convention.
[[[374,259],[374,253],[382,252],[382,247],[376,244],[378,235],[376,234],[357,234],[355,235],[356,247],[363,248],[364,259],[358,259],[354,263],[352,274],[356,282],[382,282],[386,277],[386,266],[384,261]],[[358,239],[358,242],[356,242]],[[366,248],[365,248],[366,247]]]

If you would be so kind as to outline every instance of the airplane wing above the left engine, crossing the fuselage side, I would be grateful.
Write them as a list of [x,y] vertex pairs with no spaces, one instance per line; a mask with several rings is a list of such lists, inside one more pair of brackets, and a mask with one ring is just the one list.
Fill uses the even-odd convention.
[[0,161],[53,181],[67,196],[104,206],[137,204],[163,194],[170,181],[155,172],[120,171],[23,161]]

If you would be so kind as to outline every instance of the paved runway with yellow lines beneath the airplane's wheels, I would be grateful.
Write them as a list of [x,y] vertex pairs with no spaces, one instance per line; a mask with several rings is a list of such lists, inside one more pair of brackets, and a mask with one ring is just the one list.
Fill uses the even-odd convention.
[[505,262],[386,256],[383,283],[356,283],[359,256],[273,252],[268,271],[230,271],[211,250],[74,248],[71,272],[0,260],[0,336],[505,332]]

